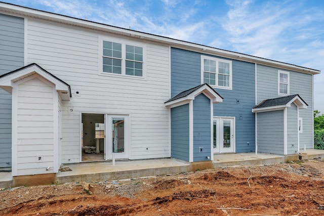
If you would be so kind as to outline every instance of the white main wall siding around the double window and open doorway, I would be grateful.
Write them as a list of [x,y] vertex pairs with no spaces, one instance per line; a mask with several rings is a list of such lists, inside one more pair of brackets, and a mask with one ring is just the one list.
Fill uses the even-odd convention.
[[71,86],[71,101],[62,102],[62,163],[80,161],[80,113],[129,114],[130,158],[170,157],[169,111],[164,107],[169,99],[169,48],[145,44],[145,78],[100,76],[98,38],[107,36],[28,20],[28,63],[37,62]]

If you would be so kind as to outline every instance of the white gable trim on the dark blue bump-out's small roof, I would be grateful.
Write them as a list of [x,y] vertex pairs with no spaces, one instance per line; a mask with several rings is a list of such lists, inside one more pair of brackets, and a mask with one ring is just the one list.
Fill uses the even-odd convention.
[[165,106],[169,108],[173,108],[173,107],[181,106],[183,104],[187,104],[190,101],[193,101],[194,98],[197,95],[200,95],[201,93],[203,93],[206,97],[208,97],[214,104],[223,102],[223,98],[220,97],[213,89],[211,89],[208,85],[203,85],[202,87],[198,88],[197,90],[193,91],[187,96],[165,103]]

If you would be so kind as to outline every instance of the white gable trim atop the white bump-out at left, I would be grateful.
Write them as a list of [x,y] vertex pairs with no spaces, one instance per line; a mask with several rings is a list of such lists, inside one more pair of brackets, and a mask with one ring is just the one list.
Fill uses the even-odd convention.
[[70,100],[69,86],[66,83],[55,78],[48,72],[39,68],[37,65],[31,65],[29,67],[22,68],[21,70],[17,70],[13,73],[1,77],[0,87],[5,89],[9,93],[12,93],[12,88],[14,87],[15,82],[25,79],[26,77],[31,76],[35,73],[53,83],[55,85],[55,90],[60,94],[62,100]]

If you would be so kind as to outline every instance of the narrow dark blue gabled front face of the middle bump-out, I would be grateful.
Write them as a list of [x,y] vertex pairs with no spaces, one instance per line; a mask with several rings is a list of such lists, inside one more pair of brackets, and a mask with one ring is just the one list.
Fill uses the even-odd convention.
[[200,94],[193,100],[193,161],[210,160],[207,156],[211,156],[211,101]]

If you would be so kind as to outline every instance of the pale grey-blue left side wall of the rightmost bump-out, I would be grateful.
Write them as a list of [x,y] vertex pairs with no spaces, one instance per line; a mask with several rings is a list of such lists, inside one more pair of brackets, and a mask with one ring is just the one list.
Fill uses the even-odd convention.
[[257,113],[258,152],[284,154],[284,110]]

